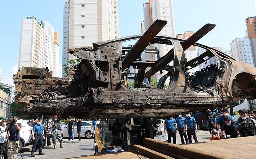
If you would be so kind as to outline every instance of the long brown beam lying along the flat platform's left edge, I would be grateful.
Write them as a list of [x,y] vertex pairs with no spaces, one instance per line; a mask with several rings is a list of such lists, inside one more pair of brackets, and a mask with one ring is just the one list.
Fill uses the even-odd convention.
[[[161,149],[165,151],[169,151],[184,157],[189,157],[191,159],[228,159],[228,157],[223,156],[223,153],[216,155],[216,153],[206,152],[203,151],[202,149],[190,148],[193,147],[192,145],[190,145],[190,147],[182,147],[181,145],[175,145],[168,142],[161,142],[151,138],[144,138],[143,143],[156,148],[161,147]],[[217,148],[215,147],[215,149]]]

